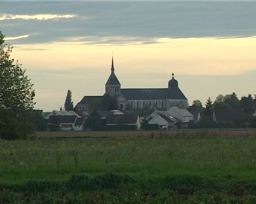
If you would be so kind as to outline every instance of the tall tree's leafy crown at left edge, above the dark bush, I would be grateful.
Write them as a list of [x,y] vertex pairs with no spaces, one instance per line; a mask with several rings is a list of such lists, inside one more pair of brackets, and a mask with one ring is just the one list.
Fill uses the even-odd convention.
[[33,84],[25,75],[26,69],[14,59],[10,59],[12,47],[4,44],[0,31],[0,107],[10,109],[15,114],[33,108],[35,92]]

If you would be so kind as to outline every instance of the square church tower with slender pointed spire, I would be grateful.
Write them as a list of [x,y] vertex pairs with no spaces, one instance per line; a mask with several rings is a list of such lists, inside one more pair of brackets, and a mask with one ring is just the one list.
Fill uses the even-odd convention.
[[121,84],[119,83],[116,75],[114,74],[113,56],[112,56],[111,74],[105,85],[105,93],[110,94],[111,96],[121,94]]

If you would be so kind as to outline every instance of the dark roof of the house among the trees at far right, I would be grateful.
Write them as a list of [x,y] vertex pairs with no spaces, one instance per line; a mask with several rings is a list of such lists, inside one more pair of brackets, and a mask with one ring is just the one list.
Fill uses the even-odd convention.
[[241,109],[215,109],[214,110],[215,119],[217,121],[233,121],[235,117],[239,115],[244,115],[244,111]]

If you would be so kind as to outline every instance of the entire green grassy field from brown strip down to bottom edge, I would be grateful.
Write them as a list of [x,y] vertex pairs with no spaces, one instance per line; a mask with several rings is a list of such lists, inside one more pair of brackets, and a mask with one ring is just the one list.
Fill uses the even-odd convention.
[[[78,198],[90,203],[91,197],[256,202],[256,131],[138,131],[68,139],[58,134],[0,140],[0,203],[47,198],[58,203],[61,196],[71,203]],[[23,197],[27,193],[31,200]]]

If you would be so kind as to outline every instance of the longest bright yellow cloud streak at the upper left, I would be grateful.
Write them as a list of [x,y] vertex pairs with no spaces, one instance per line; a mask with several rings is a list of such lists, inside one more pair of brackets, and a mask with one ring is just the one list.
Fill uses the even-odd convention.
[[48,20],[48,19],[58,19],[58,18],[73,18],[75,15],[66,14],[66,15],[58,15],[58,14],[36,14],[36,15],[12,15],[12,14],[4,14],[0,16],[0,21],[3,20],[13,20],[13,19],[24,19],[24,20]]

